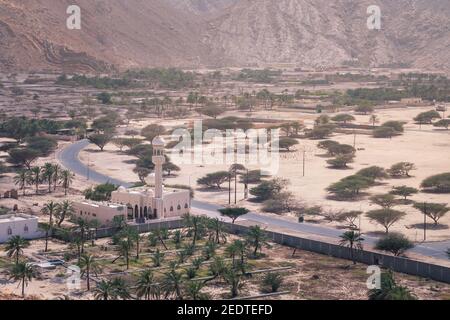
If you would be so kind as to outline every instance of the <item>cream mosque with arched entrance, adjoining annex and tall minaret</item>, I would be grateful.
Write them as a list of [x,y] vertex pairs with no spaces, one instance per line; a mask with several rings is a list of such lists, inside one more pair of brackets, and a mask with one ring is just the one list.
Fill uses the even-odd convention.
[[149,187],[120,187],[111,194],[110,202],[75,202],[75,214],[88,221],[97,220],[101,225],[108,226],[116,216],[123,217],[128,222],[146,223],[189,213],[190,191],[165,188],[163,185],[163,164],[166,160],[164,140],[156,137],[152,146],[152,161],[155,165],[153,190]]

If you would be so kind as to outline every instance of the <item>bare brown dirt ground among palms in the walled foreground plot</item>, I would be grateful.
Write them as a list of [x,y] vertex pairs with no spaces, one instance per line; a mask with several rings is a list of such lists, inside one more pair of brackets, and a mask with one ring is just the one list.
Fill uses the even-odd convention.
[[[97,242],[97,247],[106,244],[108,240]],[[351,265],[351,262],[331,258],[306,251],[297,251],[292,256],[292,249],[270,244],[265,248],[265,256],[252,260],[253,269],[270,269],[274,267],[289,267],[282,271],[283,284],[280,291],[289,291],[270,299],[286,300],[365,300],[367,299],[366,281],[368,274],[365,265]],[[25,251],[25,255],[36,257],[35,253],[43,248],[42,241],[33,242],[32,247]],[[65,248],[61,243],[51,242],[50,251],[55,252]],[[36,259],[36,258],[35,258]],[[0,253],[0,262],[5,261],[4,252]],[[66,269],[58,267],[55,270],[41,273],[39,279],[33,280],[26,288],[27,299],[93,299],[92,292],[86,291],[85,281],[81,281],[80,290],[68,290],[66,285]],[[396,281],[407,286],[421,300],[450,299],[450,285],[404,274],[395,274]],[[240,289],[240,296],[254,296],[260,294],[260,275],[246,279]],[[228,286],[220,281],[204,289],[215,297],[226,298]],[[20,287],[9,281],[5,274],[0,274],[0,300],[20,299]]]

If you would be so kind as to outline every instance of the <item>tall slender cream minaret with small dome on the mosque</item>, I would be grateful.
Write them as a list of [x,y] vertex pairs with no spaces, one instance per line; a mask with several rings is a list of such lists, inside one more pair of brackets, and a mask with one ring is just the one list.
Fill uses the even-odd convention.
[[153,139],[153,157],[152,162],[155,165],[155,209],[159,219],[164,219],[164,201],[163,201],[163,164],[166,162],[164,156],[164,147],[166,143],[163,138]]

